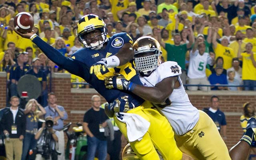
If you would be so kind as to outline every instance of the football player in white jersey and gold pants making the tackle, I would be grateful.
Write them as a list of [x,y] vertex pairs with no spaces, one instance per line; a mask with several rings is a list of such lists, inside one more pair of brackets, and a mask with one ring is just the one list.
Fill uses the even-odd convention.
[[[233,148],[231,154],[236,155],[233,158],[233,155],[229,155],[228,148],[212,119],[190,103],[180,79],[180,66],[172,61],[160,64],[161,50],[158,41],[144,36],[134,42],[133,49],[136,68],[140,72],[140,80],[144,86],[134,84],[118,75],[105,79],[106,88],[129,90],[154,103],[170,122],[177,146],[195,160],[246,159],[247,154],[244,154],[254,139],[252,127],[248,129],[250,134],[244,136],[235,149]],[[242,148],[241,146],[244,148],[239,155],[237,148]]]

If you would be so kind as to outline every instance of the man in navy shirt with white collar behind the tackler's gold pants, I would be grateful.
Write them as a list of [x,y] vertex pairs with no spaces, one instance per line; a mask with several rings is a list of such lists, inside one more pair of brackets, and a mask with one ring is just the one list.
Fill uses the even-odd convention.
[[220,134],[222,135],[223,140],[226,140],[227,137],[227,123],[225,114],[219,109],[219,98],[218,96],[213,95],[211,97],[211,106],[210,108],[204,108],[203,111],[212,118],[213,122],[216,124]]

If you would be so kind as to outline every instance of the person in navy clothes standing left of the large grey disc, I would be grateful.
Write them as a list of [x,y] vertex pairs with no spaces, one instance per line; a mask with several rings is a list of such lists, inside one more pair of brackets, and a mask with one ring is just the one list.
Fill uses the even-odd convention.
[[28,52],[20,52],[16,54],[17,63],[14,64],[10,70],[10,97],[18,96],[18,80],[30,69],[30,65],[25,63],[24,54],[28,54]]

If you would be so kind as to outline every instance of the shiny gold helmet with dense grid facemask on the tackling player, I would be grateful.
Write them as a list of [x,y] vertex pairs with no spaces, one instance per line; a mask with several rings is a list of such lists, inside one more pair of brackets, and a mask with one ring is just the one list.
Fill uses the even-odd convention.
[[[161,46],[155,38],[140,37],[134,42],[132,48],[136,69],[142,76],[149,76],[161,64]],[[154,54],[147,56],[144,55],[146,52],[154,52]]]

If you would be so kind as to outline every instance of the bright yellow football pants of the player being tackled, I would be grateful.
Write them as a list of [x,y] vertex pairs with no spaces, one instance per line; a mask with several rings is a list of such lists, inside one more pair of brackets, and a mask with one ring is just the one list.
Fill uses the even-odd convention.
[[[127,112],[138,114],[150,122],[148,132],[142,137],[142,140],[130,142],[132,149],[141,160],[160,160],[156,149],[161,152],[164,160],[181,160],[182,152],[176,146],[174,132],[168,120],[150,107],[152,104],[144,102],[141,106]],[[116,116],[114,116],[114,120],[128,140],[126,124],[120,122]]]

